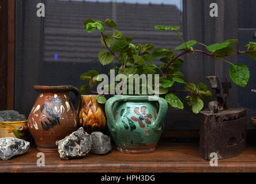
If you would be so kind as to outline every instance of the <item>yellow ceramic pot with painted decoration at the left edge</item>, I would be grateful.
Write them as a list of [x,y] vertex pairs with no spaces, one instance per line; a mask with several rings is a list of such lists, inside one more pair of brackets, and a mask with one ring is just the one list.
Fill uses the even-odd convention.
[[28,121],[3,121],[0,122],[0,138],[13,137],[25,139],[28,131]]

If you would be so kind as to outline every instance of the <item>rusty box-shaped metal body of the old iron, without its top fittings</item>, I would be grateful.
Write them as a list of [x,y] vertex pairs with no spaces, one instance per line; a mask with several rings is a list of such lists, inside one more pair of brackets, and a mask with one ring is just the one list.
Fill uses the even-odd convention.
[[202,158],[212,159],[215,152],[219,159],[239,155],[246,148],[246,109],[229,109],[210,115],[200,113],[199,152]]

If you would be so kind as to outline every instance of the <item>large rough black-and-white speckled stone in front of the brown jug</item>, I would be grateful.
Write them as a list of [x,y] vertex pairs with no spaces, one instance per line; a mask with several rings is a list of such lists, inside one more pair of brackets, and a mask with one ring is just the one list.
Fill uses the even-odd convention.
[[81,127],[64,139],[57,140],[56,145],[63,160],[82,158],[91,150],[92,138]]

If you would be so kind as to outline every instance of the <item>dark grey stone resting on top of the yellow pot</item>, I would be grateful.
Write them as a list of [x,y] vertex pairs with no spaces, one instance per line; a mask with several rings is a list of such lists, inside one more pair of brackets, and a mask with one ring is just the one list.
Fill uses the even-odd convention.
[[26,121],[27,117],[14,110],[0,111],[0,121]]

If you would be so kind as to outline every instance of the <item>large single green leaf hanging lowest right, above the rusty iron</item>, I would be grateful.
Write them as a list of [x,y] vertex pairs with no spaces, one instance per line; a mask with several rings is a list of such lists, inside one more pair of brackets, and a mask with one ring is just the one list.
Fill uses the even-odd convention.
[[229,76],[237,85],[245,87],[250,79],[250,71],[245,64],[231,64],[229,67]]

